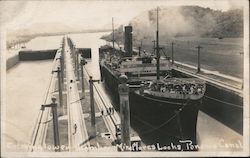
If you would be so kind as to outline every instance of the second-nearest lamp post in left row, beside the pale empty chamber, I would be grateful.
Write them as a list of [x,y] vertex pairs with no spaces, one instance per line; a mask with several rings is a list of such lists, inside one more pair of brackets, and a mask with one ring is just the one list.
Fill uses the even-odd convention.
[[60,67],[57,67],[57,70],[52,71],[52,73],[57,72],[57,82],[58,82],[58,93],[59,93],[59,115],[64,114],[64,108],[63,108],[63,96],[62,96],[62,83],[61,83],[61,70]]

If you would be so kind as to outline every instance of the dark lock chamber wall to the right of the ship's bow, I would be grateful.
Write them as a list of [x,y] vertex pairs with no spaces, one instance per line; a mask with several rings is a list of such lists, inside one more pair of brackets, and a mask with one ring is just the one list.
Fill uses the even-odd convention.
[[[177,70],[172,72],[175,76],[191,77]],[[243,135],[243,97],[239,94],[207,82],[200,110]]]

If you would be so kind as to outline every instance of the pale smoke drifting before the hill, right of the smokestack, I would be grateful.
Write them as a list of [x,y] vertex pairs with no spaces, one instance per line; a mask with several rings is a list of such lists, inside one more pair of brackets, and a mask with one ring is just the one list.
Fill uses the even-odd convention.
[[[215,18],[209,12],[201,14],[202,12],[199,9],[191,10],[189,7],[160,8],[160,35],[165,38],[175,36],[200,37],[212,31],[216,25]],[[133,34],[137,39],[145,37],[154,38],[156,31],[156,10],[150,10],[147,14],[142,13],[134,18],[130,25],[133,26]]]

